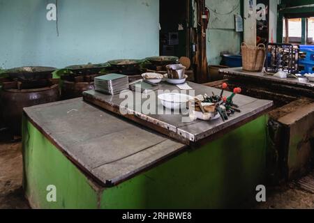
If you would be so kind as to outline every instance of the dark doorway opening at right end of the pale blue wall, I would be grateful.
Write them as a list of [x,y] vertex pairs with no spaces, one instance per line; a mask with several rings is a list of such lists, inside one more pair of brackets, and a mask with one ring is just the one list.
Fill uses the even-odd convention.
[[188,0],[160,0],[160,56],[190,58]]

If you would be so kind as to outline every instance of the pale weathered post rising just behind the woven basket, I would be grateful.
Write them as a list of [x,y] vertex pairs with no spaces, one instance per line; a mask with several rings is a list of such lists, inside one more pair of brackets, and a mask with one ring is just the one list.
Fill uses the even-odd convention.
[[244,0],[244,42],[256,46],[256,0]]

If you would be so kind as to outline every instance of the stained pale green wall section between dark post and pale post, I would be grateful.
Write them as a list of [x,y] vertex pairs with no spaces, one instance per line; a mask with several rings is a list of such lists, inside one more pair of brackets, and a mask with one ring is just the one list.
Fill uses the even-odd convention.
[[220,52],[240,52],[241,33],[234,31],[234,14],[241,13],[240,1],[242,0],[206,0],[207,7],[211,9],[207,30],[209,64],[220,63]]

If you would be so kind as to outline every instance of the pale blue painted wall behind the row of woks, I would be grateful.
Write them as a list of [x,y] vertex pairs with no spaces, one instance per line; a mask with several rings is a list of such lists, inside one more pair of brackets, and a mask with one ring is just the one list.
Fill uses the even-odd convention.
[[0,67],[103,63],[159,54],[159,1],[0,0]]

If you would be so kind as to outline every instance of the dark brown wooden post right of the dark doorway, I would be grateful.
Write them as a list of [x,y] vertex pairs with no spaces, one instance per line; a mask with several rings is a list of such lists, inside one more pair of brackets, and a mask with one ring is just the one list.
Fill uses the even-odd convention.
[[197,83],[206,83],[208,81],[208,65],[207,65],[207,51],[206,51],[206,30],[203,15],[205,15],[205,0],[195,0],[197,3],[197,51],[195,54],[196,75],[195,81]]

